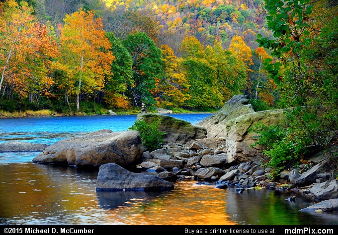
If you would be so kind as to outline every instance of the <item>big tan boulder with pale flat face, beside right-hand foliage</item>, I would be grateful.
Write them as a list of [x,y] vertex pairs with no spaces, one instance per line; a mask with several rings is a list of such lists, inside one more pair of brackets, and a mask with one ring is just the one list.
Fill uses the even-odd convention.
[[249,162],[251,160],[265,162],[262,156],[263,147],[254,144],[258,135],[249,133],[249,129],[260,122],[266,126],[278,125],[285,118],[285,110],[265,110],[254,112],[229,120],[225,125],[228,162]]

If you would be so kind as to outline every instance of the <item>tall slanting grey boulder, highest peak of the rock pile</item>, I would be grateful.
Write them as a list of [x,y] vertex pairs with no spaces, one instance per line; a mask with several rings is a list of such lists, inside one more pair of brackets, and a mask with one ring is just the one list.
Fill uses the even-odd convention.
[[224,137],[228,120],[250,113],[254,113],[254,108],[249,105],[249,99],[245,95],[235,95],[219,111],[205,117],[197,125],[207,129],[207,138]]

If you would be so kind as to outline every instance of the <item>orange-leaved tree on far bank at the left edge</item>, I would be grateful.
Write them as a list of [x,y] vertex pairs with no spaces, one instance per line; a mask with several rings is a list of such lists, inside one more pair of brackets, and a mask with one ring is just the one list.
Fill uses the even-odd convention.
[[4,54],[0,56],[2,67],[0,88],[4,77],[18,95],[18,107],[29,94],[39,103],[40,92],[47,92],[53,81],[48,76],[50,59],[59,55],[56,43],[49,36],[45,25],[34,22],[32,7],[22,1],[13,0],[2,4],[0,44]]

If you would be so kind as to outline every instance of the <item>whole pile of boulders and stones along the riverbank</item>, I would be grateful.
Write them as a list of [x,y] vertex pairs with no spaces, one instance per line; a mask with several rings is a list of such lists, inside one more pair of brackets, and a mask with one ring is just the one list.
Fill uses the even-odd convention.
[[[137,131],[100,130],[58,141],[46,147],[33,162],[99,167],[98,191],[171,190],[175,180],[192,177],[214,182],[219,188],[234,185],[239,192],[254,187],[278,190],[303,187],[303,194],[318,200],[337,198],[338,184],[336,180],[330,180],[329,159],[323,157],[323,153],[314,156],[308,165],[282,172],[279,182],[271,182],[270,169],[261,167],[267,159],[262,155],[262,146],[251,147],[257,133],[249,130],[258,122],[277,125],[285,112],[254,112],[242,95],[234,96],[220,111],[196,126],[145,111],[137,118],[148,123],[155,118],[161,120],[160,130],[166,133],[166,143],[160,149],[145,151]],[[126,170],[136,166],[157,176]]]

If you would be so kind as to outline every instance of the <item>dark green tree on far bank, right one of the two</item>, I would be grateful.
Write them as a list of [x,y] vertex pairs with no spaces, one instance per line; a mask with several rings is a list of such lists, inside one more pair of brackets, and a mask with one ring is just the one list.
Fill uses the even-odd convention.
[[122,44],[133,60],[133,85],[130,91],[134,104],[137,107],[142,102],[147,106],[154,105],[151,91],[156,88],[156,79],[162,78],[161,50],[145,33],[131,34]]

